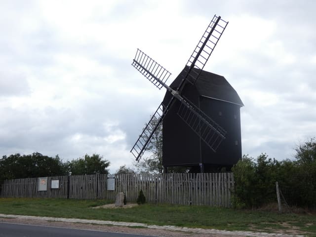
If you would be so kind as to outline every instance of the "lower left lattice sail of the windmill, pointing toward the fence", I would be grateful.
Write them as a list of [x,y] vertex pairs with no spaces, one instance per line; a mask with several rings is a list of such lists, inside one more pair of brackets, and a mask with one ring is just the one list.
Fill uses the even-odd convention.
[[155,114],[147,123],[146,127],[144,128],[143,132],[140,134],[139,138],[135,142],[133,148],[131,149],[131,153],[139,161],[140,158],[144,155],[146,148],[148,147],[150,140],[152,139],[155,131],[159,127],[163,117],[165,116],[167,110],[165,106],[161,103],[158,106]]

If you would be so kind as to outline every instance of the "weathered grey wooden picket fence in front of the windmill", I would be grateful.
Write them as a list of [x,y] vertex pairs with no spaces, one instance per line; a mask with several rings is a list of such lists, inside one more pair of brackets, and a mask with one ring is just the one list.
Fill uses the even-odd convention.
[[[59,180],[59,188],[51,188]],[[71,199],[115,199],[124,192],[136,202],[143,190],[146,201],[181,205],[231,206],[232,173],[116,174],[115,191],[107,190],[107,175],[47,177],[47,191],[39,190],[39,178],[5,180],[0,197],[61,197]]]

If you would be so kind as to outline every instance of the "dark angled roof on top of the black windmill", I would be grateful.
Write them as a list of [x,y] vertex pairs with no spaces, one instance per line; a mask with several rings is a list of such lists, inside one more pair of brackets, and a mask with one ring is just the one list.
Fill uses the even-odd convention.
[[[182,78],[186,74],[185,69],[183,69],[178,77],[170,84],[171,88],[178,87]],[[194,68],[193,70],[199,69]],[[202,71],[195,83],[195,87],[197,88],[200,96],[244,106],[236,90],[223,76]]]

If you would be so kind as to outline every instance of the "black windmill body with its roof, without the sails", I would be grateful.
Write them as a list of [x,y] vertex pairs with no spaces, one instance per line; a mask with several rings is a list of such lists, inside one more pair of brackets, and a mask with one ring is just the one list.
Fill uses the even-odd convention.
[[[170,84],[171,88],[178,86],[185,71]],[[202,172],[217,171],[222,167],[230,169],[241,158],[240,107],[243,103],[236,90],[224,77],[202,71],[195,84],[184,85],[182,96],[225,127],[227,135],[214,152],[179,117],[181,103],[176,102],[162,123],[163,166],[190,166],[197,171],[202,168]],[[168,104],[171,98],[172,95],[166,92],[162,103]]]

